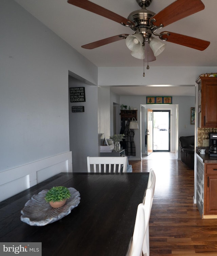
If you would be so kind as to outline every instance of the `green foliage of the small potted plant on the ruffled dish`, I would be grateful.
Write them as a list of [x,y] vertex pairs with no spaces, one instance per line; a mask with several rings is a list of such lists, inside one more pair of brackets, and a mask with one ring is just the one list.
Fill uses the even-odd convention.
[[62,201],[70,197],[71,197],[71,194],[68,188],[59,186],[59,187],[52,187],[50,190],[48,190],[47,194],[45,195],[45,200],[46,202],[56,202],[56,201]]

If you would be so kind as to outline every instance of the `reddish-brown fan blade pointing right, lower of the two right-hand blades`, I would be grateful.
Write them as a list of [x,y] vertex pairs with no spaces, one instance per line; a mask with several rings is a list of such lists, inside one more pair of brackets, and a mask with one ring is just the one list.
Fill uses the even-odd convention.
[[170,33],[169,36],[167,35],[162,36],[163,39],[167,38],[166,40],[167,42],[177,43],[177,44],[184,45],[186,47],[190,47],[200,51],[205,50],[210,45],[209,41],[205,41],[195,37],[185,36],[185,35],[181,35],[173,32],[168,32],[168,33]]

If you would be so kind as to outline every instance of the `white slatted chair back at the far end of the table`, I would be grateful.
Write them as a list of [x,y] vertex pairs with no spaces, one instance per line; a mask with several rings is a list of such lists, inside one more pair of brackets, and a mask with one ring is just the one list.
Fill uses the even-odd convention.
[[126,172],[127,157],[87,157],[87,172]]

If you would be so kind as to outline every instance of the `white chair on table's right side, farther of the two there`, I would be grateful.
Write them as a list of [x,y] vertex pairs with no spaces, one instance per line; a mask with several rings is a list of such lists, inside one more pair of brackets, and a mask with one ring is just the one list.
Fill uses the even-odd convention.
[[[149,172],[149,180],[148,180],[148,184],[147,184],[147,190],[148,189],[152,189],[152,197],[151,197],[151,208],[152,208],[152,203],[153,203],[153,198],[154,198],[154,193],[155,193],[155,183],[156,183],[156,176],[155,176],[155,172],[153,169],[150,169]],[[143,204],[145,205],[145,201],[146,200],[150,200],[149,197],[146,198],[146,194],[147,194],[147,190],[145,193],[145,197],[143,199]],[[149,193],[149,192],[148,192]],[[149,202],[147,202],[147,204],[149,204]],[[146,216],[146,218],[150,218],[150,214],[151,214],[151,208],[150,208],[150,212],[146,213],[148,214]],[[150,249],[149,249],[149,225],[147,225],[147,228],[145,230],[145,237],[144,237],[144,242],[143,242],[143,248],[142,248],[143,254],[149,256],[150,254]]]

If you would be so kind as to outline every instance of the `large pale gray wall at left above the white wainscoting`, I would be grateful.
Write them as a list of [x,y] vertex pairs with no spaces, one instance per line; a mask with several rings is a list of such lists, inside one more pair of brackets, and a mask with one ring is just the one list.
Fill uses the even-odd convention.
[[69,151],[68,70],[93,84],[98,70],[13,0],[1,0],[0,17],[0,171],[5,171]]

